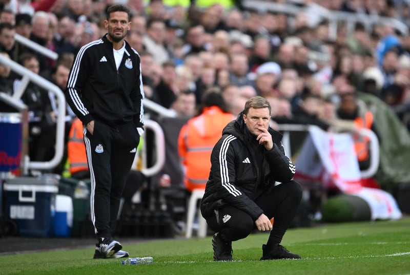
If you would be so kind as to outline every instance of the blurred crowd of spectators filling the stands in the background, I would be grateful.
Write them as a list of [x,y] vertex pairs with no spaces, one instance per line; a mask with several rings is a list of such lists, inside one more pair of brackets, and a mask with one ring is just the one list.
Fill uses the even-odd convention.
[[[388,24],[369,28],[357,22],[351,29],[347,22],[339,22],[332,35],[329,18],[321,16],[327,9],[394,17],[408,25],[409,1],[267,2],[305,9],[291,15],[245,8],[243,1],[9,0],[0,11],[0,51],[30,70],[28,66],[36,67],[36,73],[59,81],[64,89],[65,68],[71,67],[77,50],[106,33],[106,8],[127,4],[134,16],[126,39],[141,57],[146,97],[178,115],[194,116],[203,94],[217,87],[233,115],[247,99],[261,95],[271,102],[273,128],[309,123],[327,130],[337,118],[340,96],[364,92],[390,105],[403,127],[410,128],[407,33]],[[15,34],[55,51],[58,59],[33,52],[18,43]],[[59,69],[66,75],[57,80]],[[0,74],[2,91],[17,89],[20,76],[2,65]],[[45,129],[55,123],[57,114],[51,93],[35,85],[29,88],[32,92],[22,100],[32,114],[34,148],[42,131],[49,133]],[[189,96],[195,100],[182,103]],[[68,109],[66,115],[69,123],[73,114]],[[46,161],[49,156],[33,150],[30,158]]]

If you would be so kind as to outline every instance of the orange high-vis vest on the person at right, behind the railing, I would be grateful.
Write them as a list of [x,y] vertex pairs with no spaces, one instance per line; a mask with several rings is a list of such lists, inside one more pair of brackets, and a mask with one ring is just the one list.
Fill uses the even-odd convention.
[[[363,117],[355,118],[354,123],[358,128],[370,130],[373,124],[373,114],[371,112],[366,112]],[[368,143],[370,142],[370,139],[366,136],[355,135],[354,142],[357,159],[359,161],[368,159]]]

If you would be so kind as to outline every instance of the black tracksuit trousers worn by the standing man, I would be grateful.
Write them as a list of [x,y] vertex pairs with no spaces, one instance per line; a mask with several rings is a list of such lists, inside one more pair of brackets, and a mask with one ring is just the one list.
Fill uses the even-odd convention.
[[133,122],[111,127],[95,120],[92,135],[84,127],[84,142],[91,179],[91,221],[97,237],[111,237],[139,134]]

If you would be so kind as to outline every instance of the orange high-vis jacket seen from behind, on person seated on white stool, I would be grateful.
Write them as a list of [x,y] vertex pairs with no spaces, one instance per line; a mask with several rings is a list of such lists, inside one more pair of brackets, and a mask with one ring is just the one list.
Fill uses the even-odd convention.
[[182,126],[178,137],[178,153],[185,166],[184,183],[189,192],[195,188],[205,189],[211,170],[211,153],[222,136],[223,128],[235,119],[232,114],[223,113],[219,107],[203,109],[202,114],[193,117]]

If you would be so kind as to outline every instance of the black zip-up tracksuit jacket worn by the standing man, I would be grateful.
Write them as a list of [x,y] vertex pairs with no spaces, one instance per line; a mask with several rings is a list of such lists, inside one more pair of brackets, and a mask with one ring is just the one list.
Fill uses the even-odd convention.
[[87,124],[91,120],[116,126],[133,121],[144,124],[140,57],[126,42],[124,57],[117,71],[113,45],[105,35],[81,47],[67,83],[66,99]]

